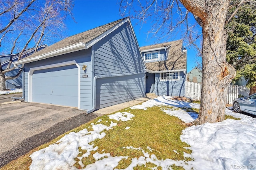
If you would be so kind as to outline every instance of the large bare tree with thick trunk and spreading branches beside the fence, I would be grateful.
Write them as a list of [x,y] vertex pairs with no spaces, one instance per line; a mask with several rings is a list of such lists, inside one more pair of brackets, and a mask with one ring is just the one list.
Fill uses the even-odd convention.
[[[202,94],[198,119],[195,123],[214,123],[224,120],[227,87],[236,75],[226,62],[226,30],[224,26],[245,3],[255,11],[255,0],[122,0],[120,12],[130,14],[140,23],[152,22],[153,33],[168,35],[182,32],[189,36],[192,14],[202,27]],[[230,7],[237,10],[228,14]],[[177,14],[179,14],[177,16]],[[186,26],[186,32],[180,30]],[[174,33],[175,34],[175,33]],[[195,36],[196,37],[196,36]],[[191,38],[193,40],[193,38]]]

